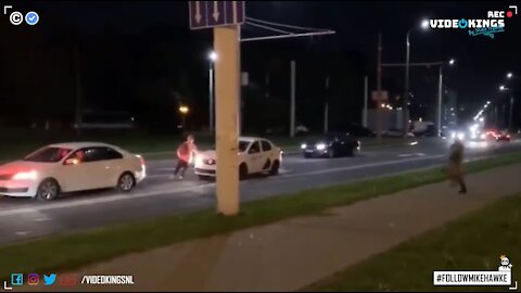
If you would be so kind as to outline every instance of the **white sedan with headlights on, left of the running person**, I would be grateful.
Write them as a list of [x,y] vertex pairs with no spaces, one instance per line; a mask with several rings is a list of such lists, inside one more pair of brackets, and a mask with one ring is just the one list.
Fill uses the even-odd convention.
[[143,158],[117,146],[59,143],[0,166],[0,195],[50,201],[61,192],[104,188],[128,192],[145,176]]

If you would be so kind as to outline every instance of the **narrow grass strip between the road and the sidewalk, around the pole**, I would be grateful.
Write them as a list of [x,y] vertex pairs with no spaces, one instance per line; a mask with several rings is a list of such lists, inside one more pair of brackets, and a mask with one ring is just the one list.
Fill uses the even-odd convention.
[[[476,173],[518,162],[521,162],[521,153],[511,153],[469,163],[467,170]],[[7,278],[13,271],[69,270],[131,252],[290,217],[316,215],[330,207],[442,180],[445,180],[444,174],[440,168],[434,168],[247,202],[242,204],[242,213],[237,217],[220,217],[209,209],[0,246],[0,278]]]

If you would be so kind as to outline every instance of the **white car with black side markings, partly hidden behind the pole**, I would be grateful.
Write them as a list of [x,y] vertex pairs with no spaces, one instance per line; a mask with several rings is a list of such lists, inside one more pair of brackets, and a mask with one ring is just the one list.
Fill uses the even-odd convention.
[[[251,174],[277,175],[282,163],[282,151],[271,141],[263,138],[239,138],[239,176]],[[195,174],[205,179],[215,177],[217,157],[215,151],[200,152],[195,157]]]

